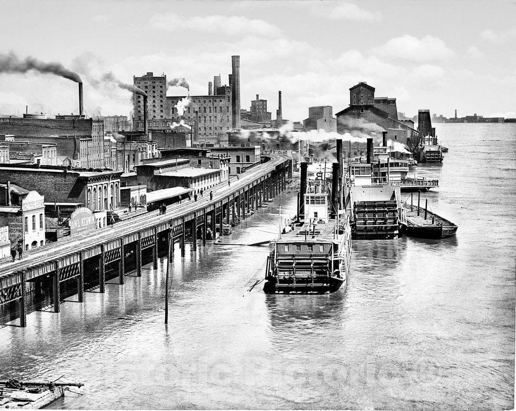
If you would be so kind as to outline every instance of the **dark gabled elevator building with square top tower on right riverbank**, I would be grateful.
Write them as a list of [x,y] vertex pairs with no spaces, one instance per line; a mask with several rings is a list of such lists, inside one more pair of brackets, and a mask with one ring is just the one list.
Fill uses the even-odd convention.
[[420,144],[420,133],[398,119],[396,98],[375,97],[375,88],[361,81],[349,89],[349,107],[336,113],[337,133],[357,127],[357,121],[373,123],[387,131],[387,138],[409,147]]

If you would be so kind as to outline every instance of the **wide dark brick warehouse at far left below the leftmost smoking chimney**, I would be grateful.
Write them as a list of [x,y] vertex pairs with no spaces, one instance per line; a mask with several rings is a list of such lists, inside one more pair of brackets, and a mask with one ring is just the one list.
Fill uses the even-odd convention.
[[[66,117],[66,118],[65,118]],[[55,143],[58,157],[68,157],[73,167],[104,167],[104,122],[78,116],[55,119],[0,118],[0,135],[12,141]]]

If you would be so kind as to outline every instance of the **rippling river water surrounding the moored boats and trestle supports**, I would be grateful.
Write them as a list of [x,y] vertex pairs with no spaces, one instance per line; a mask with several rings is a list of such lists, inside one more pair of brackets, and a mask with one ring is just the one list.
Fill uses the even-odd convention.
[[[55,408],[502,409],[513,406],[516,124],[437,124],[425,194],[455,238],[353,243],[346,291],[265,295],[267,246],[176,253],[61,313],[0,329],[0,378],[82,381]],[[286,193],[225,242],[274,238]]]

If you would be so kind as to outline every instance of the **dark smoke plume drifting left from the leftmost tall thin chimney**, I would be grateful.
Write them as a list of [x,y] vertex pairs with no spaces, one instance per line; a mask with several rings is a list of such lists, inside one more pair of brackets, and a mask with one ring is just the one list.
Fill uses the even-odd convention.
[[80,83],[81,79],[77,73],[65,69],[61,63],[38,60],[34,57],[25,57],[20,60],[13,52],[0,54],[0,73],[26,73],[35,70],[45,74],[55,74],[56,76],[68,78],[69,80]]

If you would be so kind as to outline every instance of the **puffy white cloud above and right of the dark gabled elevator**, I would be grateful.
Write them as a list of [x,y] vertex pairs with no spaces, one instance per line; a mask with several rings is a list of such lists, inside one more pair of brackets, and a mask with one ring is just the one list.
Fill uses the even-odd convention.
[[404,58],[413,61],[444,60],[453,56],[441,39],[433,36],[425,36],[421,39],[405,35],[389,40],[373,52],[384,57]]

